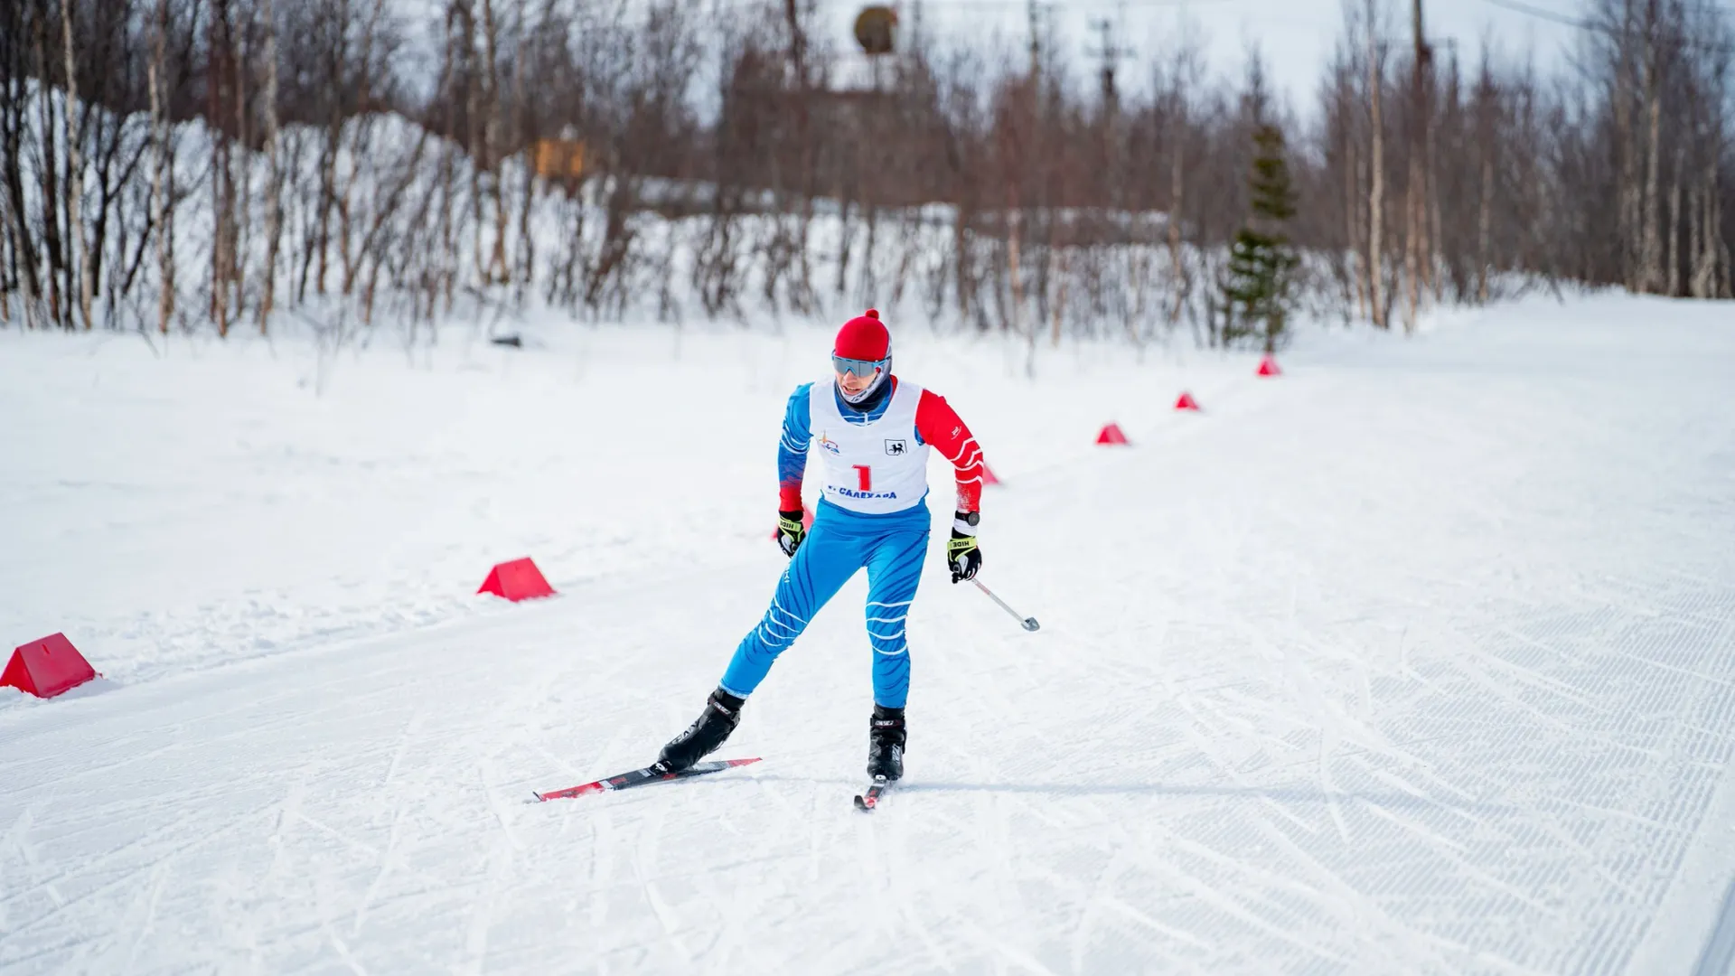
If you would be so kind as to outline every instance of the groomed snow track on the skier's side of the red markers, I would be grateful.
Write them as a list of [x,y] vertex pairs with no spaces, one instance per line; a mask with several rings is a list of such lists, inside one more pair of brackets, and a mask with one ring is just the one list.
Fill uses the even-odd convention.
[[762,538],[0,710],[0,971],[1723,974],[1735,316],[1673,309],[1324,342],[1008,465],[984,578],[1043,630],[928,575],[871,818],[861,580],[763,762],[524,802],[691,721]]

